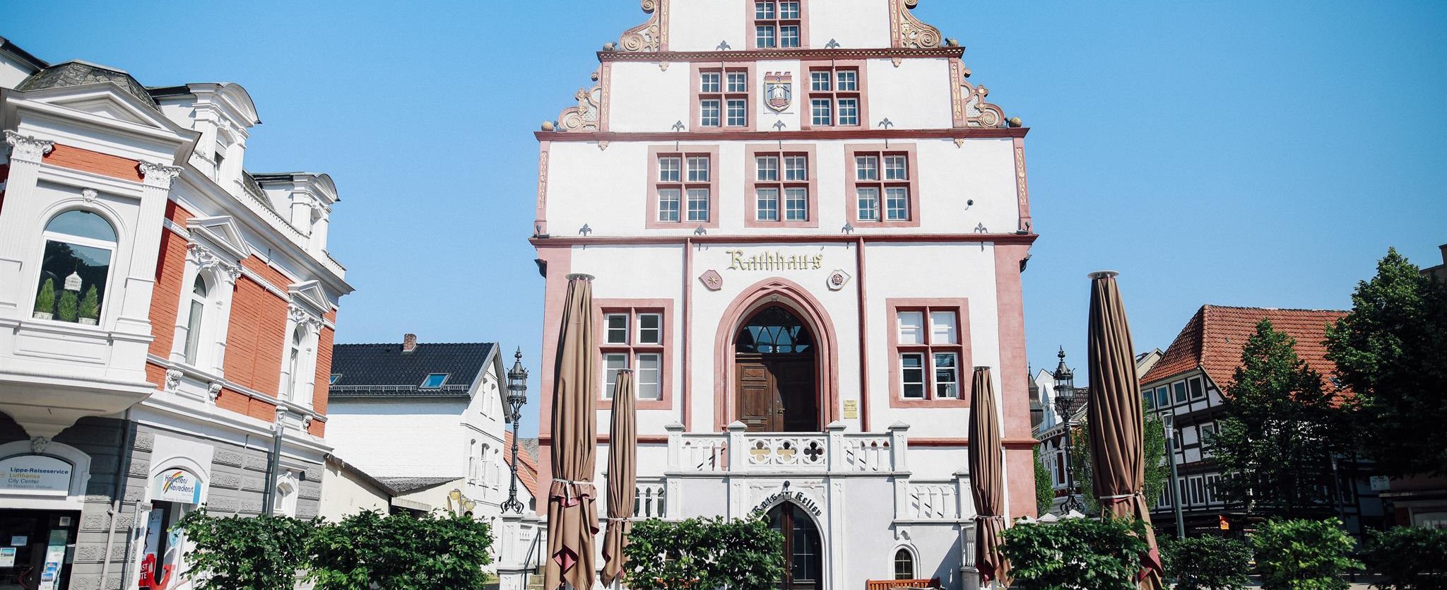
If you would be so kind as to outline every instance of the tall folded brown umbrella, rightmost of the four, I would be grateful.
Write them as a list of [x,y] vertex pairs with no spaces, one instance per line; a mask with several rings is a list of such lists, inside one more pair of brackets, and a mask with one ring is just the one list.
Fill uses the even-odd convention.
[[1146,505],[1145,415],[1140,408],[1140,380],[1136,353],[1130,344],[1126,307],[1116,286],[1114,272],[1091,273],[1090,346],[1085,366],[1090,370],[1090,457],[1095,497],[1103,516],[1134,518],[1146,523],[1146,571],[1142,589],[1160,589],[1160,554],[1150,529]]

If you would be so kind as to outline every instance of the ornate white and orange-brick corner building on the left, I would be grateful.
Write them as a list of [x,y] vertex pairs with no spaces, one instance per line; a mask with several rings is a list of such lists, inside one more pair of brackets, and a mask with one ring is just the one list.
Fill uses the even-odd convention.
[[0,39],[0,587],[188,589],[185,512],[317,513],[339,197],[247,172],[259,123]]

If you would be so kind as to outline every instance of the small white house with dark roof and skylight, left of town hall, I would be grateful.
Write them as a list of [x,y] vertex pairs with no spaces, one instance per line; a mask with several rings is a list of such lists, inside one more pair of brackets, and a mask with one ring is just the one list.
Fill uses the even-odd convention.
[[[508,409],[495,343],[336,344],[327,441],[376,477],[394,508],[498,523],[508,499]],[[454,493],[456,492],[456,493]],[[519,502],[532,495],[519,487]]]

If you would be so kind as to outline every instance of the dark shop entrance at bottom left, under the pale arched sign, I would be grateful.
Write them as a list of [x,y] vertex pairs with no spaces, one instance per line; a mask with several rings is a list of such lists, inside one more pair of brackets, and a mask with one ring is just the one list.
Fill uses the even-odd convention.
[[0,509],[0,590],[69,586],[80,512]]

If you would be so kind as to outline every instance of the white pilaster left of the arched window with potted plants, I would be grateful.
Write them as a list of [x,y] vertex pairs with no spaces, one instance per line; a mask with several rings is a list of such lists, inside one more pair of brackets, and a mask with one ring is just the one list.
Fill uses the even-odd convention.
[[4,140],[10,145],[10,175],[6,181],[6,207],[0,214],[0,315],[26,318],[32,311],[27,299],[35,294],[22,278],[22,266],[39,246],[29,243],[39,234],[38,227],[27,227],[36,223],[36,200],[32,194],[41,162],[55,148],[55,142],[10,130],[4,132]]

